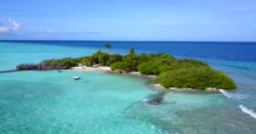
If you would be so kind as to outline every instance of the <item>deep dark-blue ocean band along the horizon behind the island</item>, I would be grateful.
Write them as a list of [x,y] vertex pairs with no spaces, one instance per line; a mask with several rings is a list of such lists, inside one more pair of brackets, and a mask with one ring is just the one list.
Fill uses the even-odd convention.
[[[72,47],[101,48],[106,41],[1,41],[31,44],[51,44]],[[238,62],[256,62],[256,42],[208,41],[109,41],[112,48],[130,49],[152,53],[168,53],[178,57],[199,57]]]

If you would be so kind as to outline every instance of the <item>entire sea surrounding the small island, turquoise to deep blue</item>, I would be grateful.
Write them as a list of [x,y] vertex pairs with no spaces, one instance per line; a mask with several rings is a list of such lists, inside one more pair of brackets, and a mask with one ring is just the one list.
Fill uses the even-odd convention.
[[[42,59],[105,51],[106,41],[0,41],[0,71]],[[237,83],[219,93],[170,91],[147,100],[152,79],[89,70],[0,73],[2,134],[255,134],[256,43],[109,41],[110,53],[168,53],[196,58]],[[79,75],[80,80],[71,77]]]

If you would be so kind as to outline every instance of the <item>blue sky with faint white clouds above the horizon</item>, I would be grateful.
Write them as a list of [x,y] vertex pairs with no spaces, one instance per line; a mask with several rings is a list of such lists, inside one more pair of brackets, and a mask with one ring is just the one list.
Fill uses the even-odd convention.
[[1,0],[0,39],[256,41],[256,0]]

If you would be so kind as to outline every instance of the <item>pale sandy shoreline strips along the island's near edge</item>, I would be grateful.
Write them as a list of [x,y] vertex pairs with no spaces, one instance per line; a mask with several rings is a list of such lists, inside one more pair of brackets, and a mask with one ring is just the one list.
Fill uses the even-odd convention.
[[[118,70],[114,71],[114,70],[111,70],[110,67],[102,67],[102,66],[100,66],[100,67],[99,66],[71,67],[70,69],[72,69],[72,70],[96,70],[96,71],[107,71],[107,72],[116,72],[116,73],[118,73]],[[149,77],[149,78],[152,78],[152,79],[157,77],[156,75],[143,75],[140,72],[129,72],[129,73],[125,73],[125,74]],[[198,89],[194,89],[194,88],[175,88],[175,87],[165,88],[162,85],[160,85],[159,83],[153,83],[152,86],[157,87],[157,88],[162,88],[162,89],[165,89],[165,90],[177,90],[177,91],[219,91],[219,89],[216,89],[216,88],[206,88],[205,90],[198,90]]]

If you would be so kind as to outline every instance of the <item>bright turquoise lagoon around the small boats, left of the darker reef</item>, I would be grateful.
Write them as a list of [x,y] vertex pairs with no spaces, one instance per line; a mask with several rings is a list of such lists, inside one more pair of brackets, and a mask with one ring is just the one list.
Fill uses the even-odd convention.
[[[74,74],[81,79],[72,80]],[[152,122],[125,114],[132,104],[156,93],[148,90],[148,79],[73,70],[8,75],[0,75],[1,132],[152,133]]]

